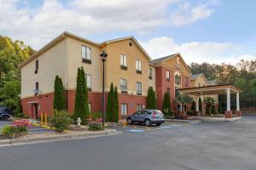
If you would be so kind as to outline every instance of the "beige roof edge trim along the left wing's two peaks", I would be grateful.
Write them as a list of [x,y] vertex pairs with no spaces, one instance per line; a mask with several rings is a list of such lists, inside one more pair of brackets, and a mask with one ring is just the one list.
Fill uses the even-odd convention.
[[146,55],[148,60],[151,60],[150,56],[147,54],[147,52],[144,50],[144,48],[139,44],[139,42],[137,42],[135,37],[132,37],[132,36],[131,37],[121,37],[121,38],[112,39],[112,40],[108,40],[108,41],[105,41],[105,42],[97,43],[97,42],[92,42],[92,41],[90,41],[88,39],[85,39],[84,37],[79,37],[79,36],[74,35],[73,33],[64,31],[63,33],[61,33],[61,35],[59,35],[58,37],[55,37],[55,39],[53,39],[51,42],[47,43],[43,48],[40,48],[30,58],[28,58],[24,62],[22,62],[19,65],[19,67],[22,68],[23,66],[27,65],[28,63],[30,63],[33,59],[38,58],[38,56],[40,54],[43,54],[49,48],[55,46],[56,43],[61,42],[61,40],[65,39],[66,37],[73,37],[74,39],[77,39],[77,40],[82,41],[82,42],[89,43],[90,45],[96,46],[98,48],[102,48],[102,47],[108,45],[108,43],[111,43],[111,42],[118,42],[118,41],[123,41],[123,40],[126,40],[126,39],[131,39],[133,42],[135,42],[135,44],[143,52],[143,54]]

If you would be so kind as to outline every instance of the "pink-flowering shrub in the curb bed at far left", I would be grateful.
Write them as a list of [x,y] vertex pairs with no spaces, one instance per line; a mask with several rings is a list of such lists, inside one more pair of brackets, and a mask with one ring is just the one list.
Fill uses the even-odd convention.
[[3,127],[1,133],[6,137],[18,137],[23,136],[27,133],[28,128],[30,128],[30,122],[26,120],[17,121],[12,126]]

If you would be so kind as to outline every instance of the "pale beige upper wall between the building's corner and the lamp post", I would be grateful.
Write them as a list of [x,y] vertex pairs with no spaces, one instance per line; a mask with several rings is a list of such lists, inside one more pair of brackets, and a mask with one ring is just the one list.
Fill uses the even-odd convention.
[[[68,42],[68,88],[76,88],[78,68],[83,66],[85,74],[91,75],[92,91],[102,91],[102,60],[100,58],[101,48],[86,42],[67,38]],[[82,45],[91,49],[91,64],[82,62]]]

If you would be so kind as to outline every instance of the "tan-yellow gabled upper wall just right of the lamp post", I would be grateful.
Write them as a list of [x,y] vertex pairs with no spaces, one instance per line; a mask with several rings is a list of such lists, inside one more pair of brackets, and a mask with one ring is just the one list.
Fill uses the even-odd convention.
[[[132,46],[129,45],[132,42]],[[111,82],[120,91],[120,78],[127,79],[128,94],[136,93],[136,82],[142,82],[143,95],[148,94],[148,65],[149,60],[131,39],[111,42],[107,46],[107,87]],[[120,69],[120,54],[127,56],[127,70]],[[136,72],[136,60],[142,61],[142,74]]]

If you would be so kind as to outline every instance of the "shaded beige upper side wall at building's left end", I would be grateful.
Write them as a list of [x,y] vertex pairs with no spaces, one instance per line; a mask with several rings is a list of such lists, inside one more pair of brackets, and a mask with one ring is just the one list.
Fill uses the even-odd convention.
[[43,94],[53,92],[55,75],[59,75],[64,84],[67,82],[65,77],[67,71],[66,52],[66,40],[64,39],[37,58],[38,74],[35,74],[36,59],[21,68],[21,98],[34,95],[36,82],[39,82],[39,89]]

